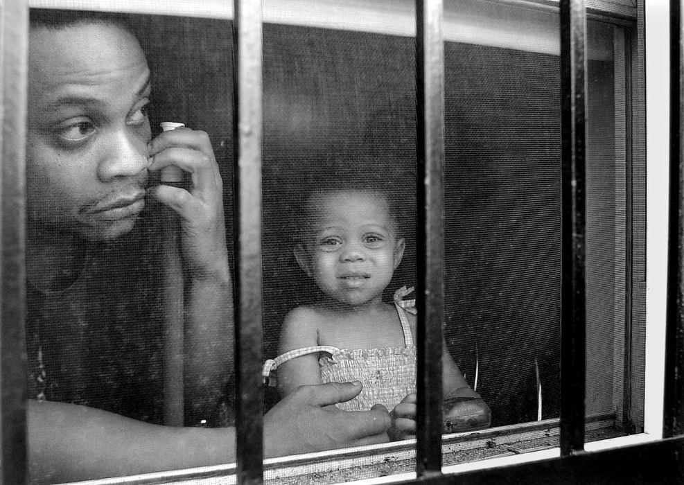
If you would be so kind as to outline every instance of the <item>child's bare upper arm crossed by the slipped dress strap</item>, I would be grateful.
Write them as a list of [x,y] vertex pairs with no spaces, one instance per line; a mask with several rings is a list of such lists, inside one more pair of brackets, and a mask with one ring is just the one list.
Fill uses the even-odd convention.
[[[317,314],[306,307],[290,311],[283,322],[279,354],[318,345]],[[321,383],[318,354],[302,355],[278,367],[278,391],[285,397],[299,386]]]

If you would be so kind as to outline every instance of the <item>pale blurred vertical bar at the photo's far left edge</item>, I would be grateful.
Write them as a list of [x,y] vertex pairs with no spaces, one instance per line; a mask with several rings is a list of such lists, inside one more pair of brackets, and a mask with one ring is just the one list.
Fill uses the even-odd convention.
[[0,483],[26,482],[26,85],[28,6],[0,2]]

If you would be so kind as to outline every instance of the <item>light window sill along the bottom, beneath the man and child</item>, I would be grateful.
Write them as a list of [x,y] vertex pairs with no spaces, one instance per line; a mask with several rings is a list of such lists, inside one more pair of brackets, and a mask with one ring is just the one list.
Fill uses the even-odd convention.
[[[464,473],[557,458],[560,456],[558,425],[558,419],[547,419],[469,434],[447,434],[443,438],[442,471],[445,474]],[[587,452],[658,441],[657,436],[649,434],[624,435],[615,427],[612,414],[588,418],[586,436]],[[267,459],[264,483],[371,485],[415,479],[415,445],[416,441],[410,439]],[[236,482],[235,469],[235,464],[225,464],[79,483],[225,485]]]

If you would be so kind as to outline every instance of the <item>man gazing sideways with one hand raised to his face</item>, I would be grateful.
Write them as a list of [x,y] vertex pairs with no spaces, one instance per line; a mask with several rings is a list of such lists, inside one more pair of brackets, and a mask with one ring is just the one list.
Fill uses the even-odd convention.
[[[76,286],[88,285],[84,274],[97,269],[92,263],[93,247],[130,238],[146,205],[148,209],[153,202],[168,206],[181,221],[182,256],[190,276],[186,285],[188,394],[218,394],[232,362],[232,325],[227,323],[231,282],[222,182],[209,139],[189,129],[152,139],[146,113],[150,72],[137,40],[109,17],[74,12],[64,17],[69,18],[55,24],[50,15],[32,12],[27,131],[30,291],[58,303],[68,300]],[[188,190],[163,184],[146,188],[150,177],[171,165],[191,174]],[[120,302],[115,303],[114,308],[119,308]],[[79,305],[74,303],[69,311],[78,314]],[[107,369],[116,367],[115,362],[102,364],[96,384],[87,389],[72,389],[67,382],[71,376],[64,371],[69,369],[64,355],[78,358],[80,340],[97,338],[82,333],[80,327],[96,322],[76,320],[77,330],[58,328],[48,344],[41,324],[49,325],[51,317],[39,315],[35,320],[37,324],[29,321],[27,329],[33,480],[111,477],[234,459],[234,428],[165,427],[88,405],[97,405],[93,395],[106,394],[109,386],[117,386],[116,393],[110,394],[125,391],[121,382],[101,378],[109,376]],[[121,333],[125,337],[133,330],[124,328]],[[78,338],[72,341],[64,335]],[[109,346],[105,342],[96,349],[106,351]],[[130,376],[131,382],[134,377]],[[295,391],[265,416],[265,454],[386,439],[390,419],[385,410],[352,414],[326,407],[359,391],[358,383]],[[67,402],[55,402],[54,396]]]

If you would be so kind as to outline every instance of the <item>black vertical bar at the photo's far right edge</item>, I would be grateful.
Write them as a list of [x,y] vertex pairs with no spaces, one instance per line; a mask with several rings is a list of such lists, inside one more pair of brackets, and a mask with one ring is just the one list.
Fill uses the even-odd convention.
[[670,2],[670,140],[669,140],[669,240],[667,255],[667,317],[665,340],[665,405],[663,436],[684,434],[684,295],[682,248],[684,247],[684,179],[681,134],[684,126],[682,87],[682,8]]

